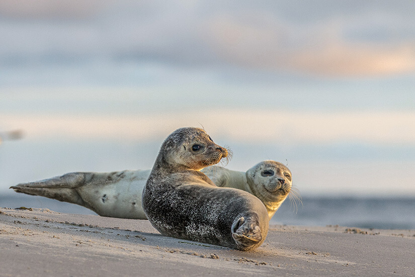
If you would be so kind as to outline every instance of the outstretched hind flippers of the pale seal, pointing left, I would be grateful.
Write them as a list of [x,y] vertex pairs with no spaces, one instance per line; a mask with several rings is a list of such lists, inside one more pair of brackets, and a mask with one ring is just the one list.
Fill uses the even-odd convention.
[[67,173],[42,181],[21,183],[10,188],[13,188],[16,192],[84,205],[84,200],[76,191],[76,188],[84,184],[84,182],[85,173]]

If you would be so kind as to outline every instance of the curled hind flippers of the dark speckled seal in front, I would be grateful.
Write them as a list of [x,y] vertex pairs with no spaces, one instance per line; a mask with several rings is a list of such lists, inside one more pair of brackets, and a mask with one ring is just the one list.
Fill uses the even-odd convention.
[[260,226],[257,223],[246,222],[241,217],[232,224],[232,238],[238,249],[250,250],[262,240]]

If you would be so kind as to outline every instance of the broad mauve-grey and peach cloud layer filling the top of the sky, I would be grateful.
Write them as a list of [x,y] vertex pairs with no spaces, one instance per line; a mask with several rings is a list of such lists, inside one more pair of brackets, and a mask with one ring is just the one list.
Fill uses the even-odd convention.
[[6,0],[0,61],[152,60],[328,77],[412,73],[412,3]]

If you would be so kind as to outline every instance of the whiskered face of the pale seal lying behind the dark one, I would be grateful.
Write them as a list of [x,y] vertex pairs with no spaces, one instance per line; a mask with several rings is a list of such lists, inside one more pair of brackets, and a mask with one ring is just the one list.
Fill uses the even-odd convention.
[[[251,179],[251,189],[271,194],[275,197],[287,195],[292,186],[291,171],[282,163],[263,161],[246,172]],[[265,189],[265,191],[264,191]],[[262,193],[262,194],[263,194]]]

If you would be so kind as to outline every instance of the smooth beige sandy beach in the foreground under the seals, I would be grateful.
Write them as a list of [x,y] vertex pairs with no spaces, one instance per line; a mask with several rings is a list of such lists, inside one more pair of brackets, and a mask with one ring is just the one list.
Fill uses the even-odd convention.
[[0,208],[0,276],[414,276],[415,231],[270,226],[253,252],[148,221]]

